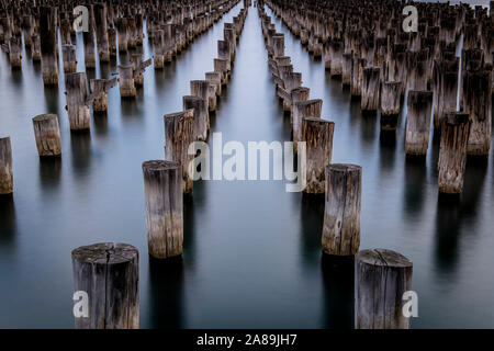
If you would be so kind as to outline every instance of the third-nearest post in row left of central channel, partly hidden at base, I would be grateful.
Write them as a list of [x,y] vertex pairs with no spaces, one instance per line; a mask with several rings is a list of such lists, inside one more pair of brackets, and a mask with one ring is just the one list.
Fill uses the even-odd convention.
[[166,114],[165,117],[165,160],[179,162],[182,166],[183,193],[192,192],[193,174],[189,165],[193,155],[189,155],[189,146],[194,141],[194,110]]

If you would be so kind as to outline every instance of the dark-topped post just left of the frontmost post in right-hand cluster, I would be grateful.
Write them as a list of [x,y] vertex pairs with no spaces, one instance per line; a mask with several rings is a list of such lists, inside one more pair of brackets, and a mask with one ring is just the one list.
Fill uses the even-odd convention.
[[411,90],[407,107],[405,152],[424,156],[429,147],[433,92]]

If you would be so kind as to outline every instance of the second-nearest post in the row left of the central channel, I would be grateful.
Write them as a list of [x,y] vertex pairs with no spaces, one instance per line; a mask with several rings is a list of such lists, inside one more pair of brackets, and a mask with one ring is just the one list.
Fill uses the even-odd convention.
[[166,259],[182,254],[183,190],[182,166],[171,161],[143,163],[149,254]]

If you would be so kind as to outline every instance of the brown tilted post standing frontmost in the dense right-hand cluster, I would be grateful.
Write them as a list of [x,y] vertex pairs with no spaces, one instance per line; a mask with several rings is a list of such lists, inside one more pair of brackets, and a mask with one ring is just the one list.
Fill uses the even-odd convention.
[[459,194],[463,189],[469,132],[468,113],[445,114],[438,161],[438,185],[441,193]]

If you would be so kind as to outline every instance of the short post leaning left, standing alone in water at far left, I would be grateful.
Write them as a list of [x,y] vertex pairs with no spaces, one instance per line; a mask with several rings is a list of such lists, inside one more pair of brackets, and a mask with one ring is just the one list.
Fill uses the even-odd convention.
[[33,127],[40,157],[60,156],[61,140],[57,115],[37,115],[33,118]]

